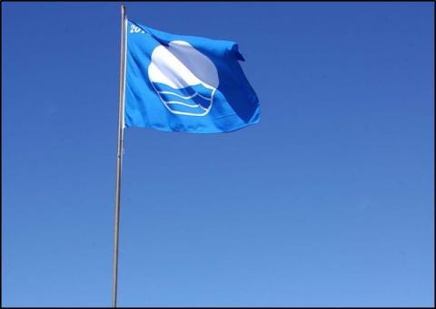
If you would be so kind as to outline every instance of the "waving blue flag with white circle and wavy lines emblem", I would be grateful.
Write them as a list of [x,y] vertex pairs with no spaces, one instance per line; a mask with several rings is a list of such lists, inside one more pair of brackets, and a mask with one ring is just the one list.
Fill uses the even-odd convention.
[[236,43],[132,21],[126,37],[125,127],[215,133],[259,121],[259,100]]

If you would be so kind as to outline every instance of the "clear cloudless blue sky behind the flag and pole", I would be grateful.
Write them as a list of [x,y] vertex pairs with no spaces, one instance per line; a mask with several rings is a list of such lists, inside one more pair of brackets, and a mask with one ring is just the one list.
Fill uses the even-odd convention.
[[[120,306],[434,304],[432,3],[126,3],[240,44],[260,123],[125,131]],[[111,304],[119,3],[2,3],[2,305]]]

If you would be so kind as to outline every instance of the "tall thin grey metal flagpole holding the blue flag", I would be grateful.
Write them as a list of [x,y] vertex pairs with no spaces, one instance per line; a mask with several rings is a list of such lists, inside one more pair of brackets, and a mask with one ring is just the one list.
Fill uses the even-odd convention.
[[123,167],[124,144],[124,86],[125,86],[125,48],[126,48],[126,20],[125,6],[121,5],[121,53],[120,53],[120,92],[118,106],[118,146],[116,155],[116,190],[115,190],[115,219],[114,219],[114,273],[112,287],[112,306],[116,307],[116,292],[118,279],[118,235],[120,227],[120,190],[121,171]]

